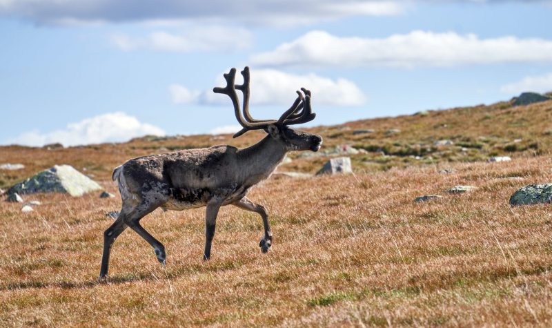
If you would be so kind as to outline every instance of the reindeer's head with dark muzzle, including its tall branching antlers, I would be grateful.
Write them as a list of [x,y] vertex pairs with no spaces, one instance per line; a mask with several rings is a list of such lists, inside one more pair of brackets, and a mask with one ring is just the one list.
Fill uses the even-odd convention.
[[[311,122],[316,114],[311,110],[311,91],[301,88],[302,92],[297,91],[297,99],[293,105],[282,114],[279,119],[254,119],[249,114],[249,68],[246,66],[242,70],[244,84],[236,85],[236,69],[232,68],[230,72],[224,74],[226,86],[224,88],[214,88],[213,92],[228,95],[234,104],[236,119],[242,125],[242,130],[235,133],[234,137],[239,137],[250,130],[264,130],[277,142],[280,142],[288,151],[318,151],[322,145],[322,137],[304,131],[297,131],[290,128],[293,124],[302,124]],[[239,110],[239,99],[237,90],[244,94],[244,115]]]

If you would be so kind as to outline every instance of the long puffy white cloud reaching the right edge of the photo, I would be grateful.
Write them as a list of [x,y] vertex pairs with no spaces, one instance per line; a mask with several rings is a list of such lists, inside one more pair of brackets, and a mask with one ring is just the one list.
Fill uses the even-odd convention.
[[312,31],[251,57],[261,66],[458,66],[552,61],[552,40],[413,31],[383,39]]

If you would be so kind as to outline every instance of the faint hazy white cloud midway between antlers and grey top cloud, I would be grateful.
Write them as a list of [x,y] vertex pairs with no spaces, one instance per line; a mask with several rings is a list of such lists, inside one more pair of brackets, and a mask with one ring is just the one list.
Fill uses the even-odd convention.
[[193,52],[235,50],[248,48],[253,35],[244,28],[201,26],[188,28],[181,34],[159,31],[146,37],[130,37],[119,34],[111,37],[112,44],[122,50],[157,50],[170,52]]

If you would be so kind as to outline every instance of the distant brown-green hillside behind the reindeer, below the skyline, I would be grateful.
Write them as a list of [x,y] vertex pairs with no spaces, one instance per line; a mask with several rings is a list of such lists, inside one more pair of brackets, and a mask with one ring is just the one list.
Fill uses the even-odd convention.
[[[371,129],[374,133],[354,134]],[[451,162],[477,162],[495,155],[532,157],[552,153],[552,102],[529,106],[511,106],[500,102],[491,106],[432,110],[416,115],[366,119],[339,126],[307,129],[324,137],[322,150],[339,144],[364,149],[351,155],[356,172],[385,171],[392,167],[447,166]],[[400,132],[389,132],[397,130]],[[253,131],[233,139],[231,135],[192,135],[143,137],[123,144],[100,144],[72,148],[0,147],[0,163],[25,164],[21,171],[0,171],[0,188],[6,188],[53,164],[71,164],[99,180],[107,180],[112,168],[132,157],[164,153],[215,144],[248,146],[264,136]],[[452,145],[437,145],[451,140]],[[282,171],[315,173],[325,157],[295,159],[284,164]]]

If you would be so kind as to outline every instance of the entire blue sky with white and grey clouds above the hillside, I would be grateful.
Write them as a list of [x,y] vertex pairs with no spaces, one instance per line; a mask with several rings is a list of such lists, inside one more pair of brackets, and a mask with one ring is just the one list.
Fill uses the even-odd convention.
[[[552,91],[552,1],[0,0],[0,144],[239,130],[312,91],[306,126]],[[237,83],[241,83],[238,74]]]

